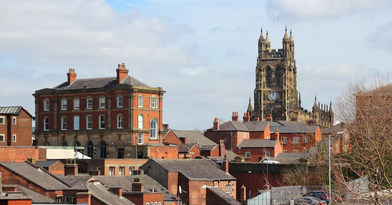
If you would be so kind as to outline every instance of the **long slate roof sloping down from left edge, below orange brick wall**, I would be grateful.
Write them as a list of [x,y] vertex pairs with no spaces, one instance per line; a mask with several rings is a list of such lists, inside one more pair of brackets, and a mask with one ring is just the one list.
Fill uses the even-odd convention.
[[38,168],[29,162],[0,162],[0,165],[46,190],[63,190],[69,188],[69,186],[63,184],[62,181],[49,172],[44,169],[38,170]]

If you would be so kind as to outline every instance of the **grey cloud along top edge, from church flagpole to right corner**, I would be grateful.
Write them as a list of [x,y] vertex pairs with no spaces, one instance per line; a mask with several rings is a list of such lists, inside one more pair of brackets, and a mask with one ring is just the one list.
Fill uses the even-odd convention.
[[379,12],[390,9],[390,0],[269,0],[267,11],[277,11],[279,17],[309,20],[338,18],[358,11]]

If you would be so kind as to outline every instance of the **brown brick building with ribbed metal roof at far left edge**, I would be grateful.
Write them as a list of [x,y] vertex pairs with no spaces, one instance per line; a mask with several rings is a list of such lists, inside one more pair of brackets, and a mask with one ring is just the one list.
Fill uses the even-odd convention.
[[31,146],[32,119],[22,106],[0,107],[0,146]]

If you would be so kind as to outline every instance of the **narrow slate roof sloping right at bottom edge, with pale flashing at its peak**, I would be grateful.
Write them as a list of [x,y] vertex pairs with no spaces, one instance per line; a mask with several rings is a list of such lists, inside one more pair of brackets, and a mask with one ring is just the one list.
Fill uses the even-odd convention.
[[102,201],[106,204],[133,204],[131,201],[127,200],[124,197],[119,197],[114,193],[108,191],[108,188],[102,185],[100,182],[87,182],[85,186],[89,190],[89,193],[94,196],[94,198]]

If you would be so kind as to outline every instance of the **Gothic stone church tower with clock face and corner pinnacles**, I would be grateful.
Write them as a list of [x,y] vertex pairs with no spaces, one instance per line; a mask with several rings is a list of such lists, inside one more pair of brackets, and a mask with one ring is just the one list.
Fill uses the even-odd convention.
[[271,50],[268,31],[264,39],[261,29],[256,63],[256,88],[254,89],[253,118],[265,121],[268,114],[274,120],[297,121],[298,93],[297,68],[294,59],[294,40],[287,27],[283,48]]

